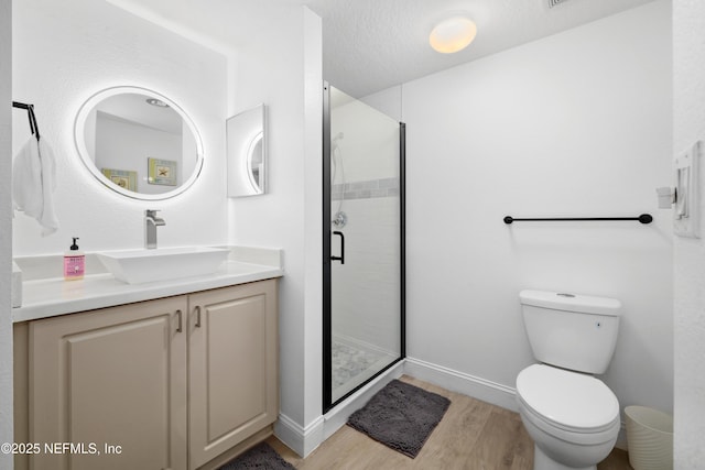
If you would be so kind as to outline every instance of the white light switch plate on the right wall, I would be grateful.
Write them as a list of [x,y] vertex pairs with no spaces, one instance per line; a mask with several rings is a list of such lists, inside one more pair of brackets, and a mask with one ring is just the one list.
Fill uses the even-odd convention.
[[701,171],[702,141],[680,153],[674,162],[675,205],[673,230],[681,237],[701,238]]

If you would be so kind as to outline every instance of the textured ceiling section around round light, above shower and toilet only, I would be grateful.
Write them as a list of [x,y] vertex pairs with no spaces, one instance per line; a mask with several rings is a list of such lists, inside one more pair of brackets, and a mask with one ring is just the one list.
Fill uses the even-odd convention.
[[[455,65],[535,41],[650,0],[310,0],[323,18],[324,76],[361,97]],[[464,51],[429,45],[435,22],[466,11],[477,37]]]

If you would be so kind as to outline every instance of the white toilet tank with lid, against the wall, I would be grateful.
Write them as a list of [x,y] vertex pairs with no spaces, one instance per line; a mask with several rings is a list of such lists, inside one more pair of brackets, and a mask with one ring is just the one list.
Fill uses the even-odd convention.
[[621,302],[615,298],[521,291],[524,327],[534,358],[601,374],[617,346]]

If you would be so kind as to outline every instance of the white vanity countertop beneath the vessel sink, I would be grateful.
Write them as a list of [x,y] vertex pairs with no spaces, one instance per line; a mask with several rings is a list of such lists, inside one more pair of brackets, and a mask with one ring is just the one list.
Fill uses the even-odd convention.
[[109,273],[87,275],[78,281],[64,281],[63,277],[29,280],[22,283],[22,306],[12,309],[12,321],[189,294],[283,274],[281,266],[229,260],[214,274],[143,284],[126,284]]

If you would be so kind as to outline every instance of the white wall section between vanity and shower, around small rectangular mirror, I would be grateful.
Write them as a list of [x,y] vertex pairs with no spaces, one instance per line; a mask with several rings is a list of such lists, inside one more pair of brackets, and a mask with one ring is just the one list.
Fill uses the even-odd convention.
[[229,242],[284,249],[280,403],[303,438],[322,413],[321,19],[293,4],[269,15],[271,29],[239,51],[229,109],[268,106],[268,194],[230,199]]

